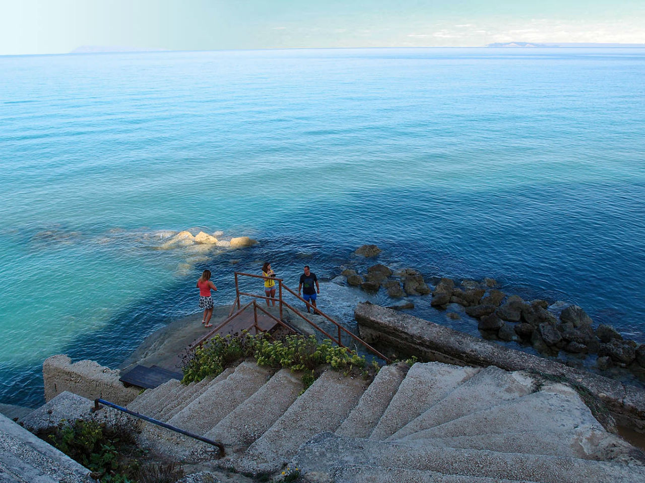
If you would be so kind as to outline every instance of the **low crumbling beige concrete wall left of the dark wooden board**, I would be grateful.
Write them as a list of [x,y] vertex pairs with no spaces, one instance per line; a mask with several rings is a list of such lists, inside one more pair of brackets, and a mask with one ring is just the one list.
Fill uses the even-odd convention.
[[52,355],[43,363],[45,401],[50,401],[61,392],[68,391],[88,399],[101,397],[111,403],[131,403],[139,388],[126,386],[119,381],[119,370],[99,365],[95,361],[78,361],[63,354]]

